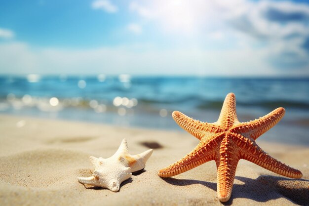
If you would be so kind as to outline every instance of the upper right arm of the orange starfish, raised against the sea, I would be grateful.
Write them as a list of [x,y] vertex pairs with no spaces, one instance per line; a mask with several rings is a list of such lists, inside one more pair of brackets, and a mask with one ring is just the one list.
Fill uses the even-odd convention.
[[279,107],[268,115],[261,117],[257,120],[247,123],[240,123],[236,127],[232,128],[232,132],[241,133],[244,136],[250,136],[253,139],[257,139],[259,136],[267,132],[271,127],[277,124],[284,116],[285,110]]

